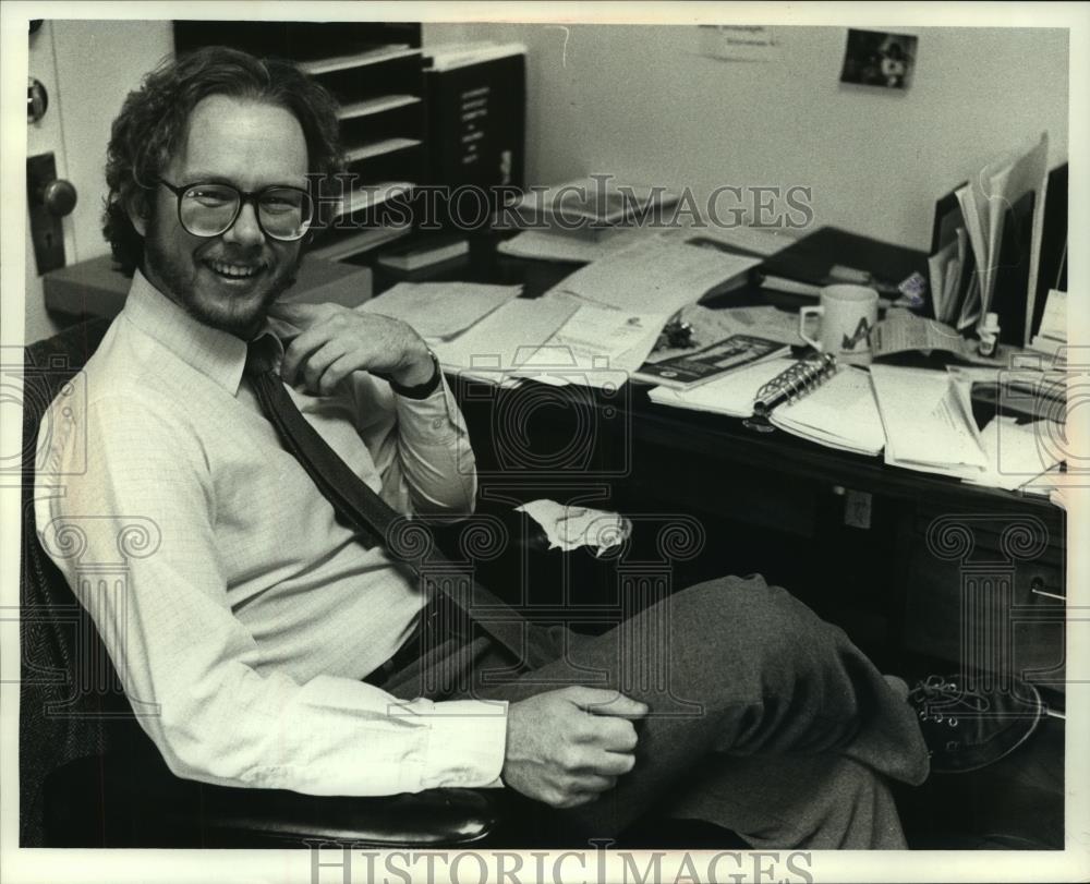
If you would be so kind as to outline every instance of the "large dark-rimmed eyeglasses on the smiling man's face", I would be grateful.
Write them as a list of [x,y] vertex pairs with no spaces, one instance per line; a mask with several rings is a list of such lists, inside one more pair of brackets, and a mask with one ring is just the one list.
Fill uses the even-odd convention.
[[274,240],[300,240],[314,218],[314,201],[302,187],[277,185],[256,193],[231,184],[184,184],[175,186],[157,179],[178,197],[178,220],[194,237],[218,237],[230,230],[244,203],[256,208],[257,226]]

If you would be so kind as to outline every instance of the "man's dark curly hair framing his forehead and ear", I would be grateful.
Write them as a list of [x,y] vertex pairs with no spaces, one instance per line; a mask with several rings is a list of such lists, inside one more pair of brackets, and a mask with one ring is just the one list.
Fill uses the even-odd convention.
[[144,258],[144,238],[126,206],[148,217],[154,182],[184,144],[193,108],[210,95],[264,101],[294,114],[306,138],[310,172],[328,175],[342,167],[337,102],[293,64],[258,59],[223,46],[166,61],[129,93],[113,121],[106,155],[109,193],[102,216],[113,258],[132,275]]

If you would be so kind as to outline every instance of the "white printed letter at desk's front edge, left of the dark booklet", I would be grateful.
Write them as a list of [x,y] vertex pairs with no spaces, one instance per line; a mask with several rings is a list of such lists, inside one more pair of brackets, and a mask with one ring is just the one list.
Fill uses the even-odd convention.
[[[580,303],[571,299],[571,303]],[[590,387],[619,387],[654,347],[663,319],[581,303],[517,374],[545,384],[557,379]],[[577,370],[577,371],[572,371]]]

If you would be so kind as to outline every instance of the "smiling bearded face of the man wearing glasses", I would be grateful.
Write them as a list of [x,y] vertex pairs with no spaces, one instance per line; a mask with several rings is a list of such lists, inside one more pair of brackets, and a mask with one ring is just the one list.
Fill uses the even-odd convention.
[[[148,282],[195,319],[249,340],[293,282],[312,215],[306,140],[282,107],[211,95],[194,109],[182,149],[144,214]],[[245,201],[240,189],[245,189]],[[143,195],[142,195],[143,196]]]

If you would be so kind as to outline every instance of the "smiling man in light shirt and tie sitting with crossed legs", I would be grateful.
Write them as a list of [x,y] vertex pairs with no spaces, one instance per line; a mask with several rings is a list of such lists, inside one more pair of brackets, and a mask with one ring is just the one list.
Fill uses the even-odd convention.
[[[336,133],[324,89],[223,48],[150,74],[113,125],[105,230],[133,282],[83,410],[43,422],[86,438],[41,439],[75,474],[39,488],[36,517],[126,693],[157,704],[140,722],[171,770],[314,795],[507,786],[584,837],[658,810],[760,846],[903,847],[886,778],[927,775],[915,714],[784,590],[713,581],[601,637],[514,611],[513,642],[444,632],[447,600],[344,518],[346,492],[379,520],[465,514],[476,482],[420,336],[278,303]],[[65,470],[84,445],[86,470]],[[339,482],[302,452],[315,445]],[[85,558],[112,560],[132,519],[157,546],[119,597],[58,538],[78,526]],[[637,652],[664,655],[640,662],[670,685],[628,690],[626,643],[663,623],[669,640]]]

